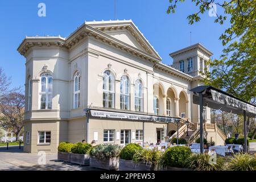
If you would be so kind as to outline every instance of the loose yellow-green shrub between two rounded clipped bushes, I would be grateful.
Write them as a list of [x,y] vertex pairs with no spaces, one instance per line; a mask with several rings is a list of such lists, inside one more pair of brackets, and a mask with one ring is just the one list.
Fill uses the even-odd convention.
[[133,156],[133,161],[137,164],[149,164],[151,170],[158,169],[158,162],[162,156],[162,152],[158,150],[137,150]]

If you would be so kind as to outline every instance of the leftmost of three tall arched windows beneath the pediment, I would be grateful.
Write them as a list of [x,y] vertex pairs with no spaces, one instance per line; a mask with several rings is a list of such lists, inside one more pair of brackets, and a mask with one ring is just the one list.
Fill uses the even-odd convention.
[[114,108],[114,76],[109,70],[103,75],[103,106]]

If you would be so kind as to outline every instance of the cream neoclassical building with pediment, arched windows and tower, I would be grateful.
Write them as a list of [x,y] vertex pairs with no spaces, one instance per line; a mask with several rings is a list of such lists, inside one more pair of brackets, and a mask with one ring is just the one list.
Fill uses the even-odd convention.
[[[27,36],[24,151],[56,152],[60,142],[156,143],[175,137],[177,118],[198,137],[199,106],[189,89],[212,53],[195,44],[161,57],[131,20],[85,22],[68,38]],[[210,124],[208,140],[225,136]],[[181,119],[179,135],[187,131]]]

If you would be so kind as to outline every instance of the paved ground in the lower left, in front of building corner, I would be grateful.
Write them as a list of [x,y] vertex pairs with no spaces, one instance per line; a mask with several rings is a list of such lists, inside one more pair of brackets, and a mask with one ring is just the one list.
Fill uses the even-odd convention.
[[[46,163],[39,164],[38,154],[28,154],[23,152],[23,147],[9,146],[0,147],[0,171],[1,170],[42,170],[42,171],[91,171],[99,170],[89,166],[57,161],[57,154],[46,154]],[[42,161],[42,160],[41,160]]]

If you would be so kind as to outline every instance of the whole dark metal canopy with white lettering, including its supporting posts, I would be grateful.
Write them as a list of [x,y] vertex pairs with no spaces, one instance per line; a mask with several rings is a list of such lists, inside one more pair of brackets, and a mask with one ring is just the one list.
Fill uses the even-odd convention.
[[190,91],[193,92],[193,104],[200,105],[200,152],[203,154],[203,106],[228,113],[243,114],[243,134],[245,152],[247,152],[246,116],[256,117],[256,106],[209,85],[197,86]]

